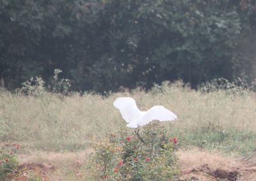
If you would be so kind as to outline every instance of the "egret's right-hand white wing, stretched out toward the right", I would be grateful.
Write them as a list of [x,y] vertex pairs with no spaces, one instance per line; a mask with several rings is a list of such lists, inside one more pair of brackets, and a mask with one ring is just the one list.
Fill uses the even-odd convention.
[[172,121],[175,119],[177,119],[177,115],[164,108],[164,106],[153,106],[145,113],[141,121],[138,123],[138,126],[145,126],[152,120]]

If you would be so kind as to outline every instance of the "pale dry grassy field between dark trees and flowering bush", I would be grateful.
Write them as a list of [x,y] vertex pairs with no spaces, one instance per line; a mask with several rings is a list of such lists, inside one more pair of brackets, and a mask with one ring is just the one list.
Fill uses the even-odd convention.
[[[134,98],[140,110],[163,105],[176,113],[177,121],[161,125],[171,137],[178,138],[181,150],[197,147],[227,157],[255,157],[255,93],[236,90],[205,93],[181,82],[157,85],[148,92],[136,89],[108,96],[73,93],[61,97],[49,92],[24,96],[2,90],[1,145],[19,143],[20,163],[56,166],[58,170],[51,180],[83,180],[81,168],[87,154],[92,152],[93,140],[125,126],[113,107],[113,101],[121,96]],[[133,130],[128,131],[132,134]]]

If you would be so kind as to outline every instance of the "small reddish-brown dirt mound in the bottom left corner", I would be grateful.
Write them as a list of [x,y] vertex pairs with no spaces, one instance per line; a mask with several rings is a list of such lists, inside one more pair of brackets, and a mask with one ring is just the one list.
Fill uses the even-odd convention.
[[13,181],[26,181],[31,178],[40,178],[44,181],[51,180],[49,173],[54,171],[55,168],[51,164],[45,163],[24,163],[20,164],[15,171],[15,174],[10,176]]

